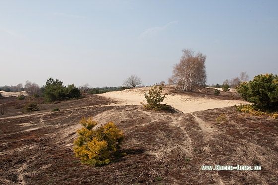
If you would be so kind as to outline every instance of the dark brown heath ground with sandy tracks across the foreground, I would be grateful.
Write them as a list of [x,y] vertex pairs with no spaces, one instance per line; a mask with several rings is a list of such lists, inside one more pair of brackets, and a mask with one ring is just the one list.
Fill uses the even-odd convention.
[[[192,92],[203,94],[210,95]],[[14,97],[3,102],[8,104],[0,116],[3,185],[278,184],[278,120],[272,118],[238,113],[234,107],[189,114],[147,111],[141,105],[115,106],[97,95],[39,104],[40,111],[32,113],[21,113]],[[60,111],[51,112],[56,107]],[[221,113],[227,121],[216,123]],[[126,136],[121,151],[127,155],[103,167],[80,164],[72,143],[83,116],[99,124],[115,122]],[[202,165],[262,170],[202,171]]]

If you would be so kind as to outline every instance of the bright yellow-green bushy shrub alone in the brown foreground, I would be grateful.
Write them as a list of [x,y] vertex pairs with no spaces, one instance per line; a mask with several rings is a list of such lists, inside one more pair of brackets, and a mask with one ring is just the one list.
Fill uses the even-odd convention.
[[84,127],[77,130],[78,137],[74,140],[74,153],[80,157],[82,164],[95,166],[110,163],[113,153],[120,148],[124,140],[123,131],[114,123],[106,123],[98,129],[93,129],[97,122],[85,117],[79,122]]

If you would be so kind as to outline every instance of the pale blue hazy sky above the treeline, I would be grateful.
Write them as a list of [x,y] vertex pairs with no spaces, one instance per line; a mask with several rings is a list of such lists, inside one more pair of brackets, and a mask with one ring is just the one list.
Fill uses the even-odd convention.
[[0,0],[0,86],[146,86],[183,49],[207,56],[207,84],[278,74],[278,0]]

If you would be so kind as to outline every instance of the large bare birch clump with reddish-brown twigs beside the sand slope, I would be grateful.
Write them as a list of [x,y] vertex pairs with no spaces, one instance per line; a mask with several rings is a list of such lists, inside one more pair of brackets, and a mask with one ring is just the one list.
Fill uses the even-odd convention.
[[187,91],[192,90],[192,85],[205,85],[206,55],[194,54],[192,50],[183,50],[181,61],[174,65],[173,75],[168,79],[169,84],[176,85],[176,88]]

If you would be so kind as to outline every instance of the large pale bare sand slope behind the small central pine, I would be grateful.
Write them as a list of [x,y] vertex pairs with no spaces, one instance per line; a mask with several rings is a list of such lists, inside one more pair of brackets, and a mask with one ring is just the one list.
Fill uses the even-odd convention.
[[[140,105],[140,102],[147,104],[144,97],[144,92],[147,92],[150,87],[143,87],[138,89],[126,89],[124,91],[107,92],[104,94],[99,94],[99,96],[104,96],[112,98],[119,101],[116,105]],[[163,103],[171,105],[175,109],[182,111],[183,113],[191,113],[195,111],[203,111],[207,109],[223,108],[234,105],[246,104],[245,101],[241,100],[219,100],[210,97],[193,97],[189,95],[179,95],[173,94],[168,91],[164,91],[166,98]]]

